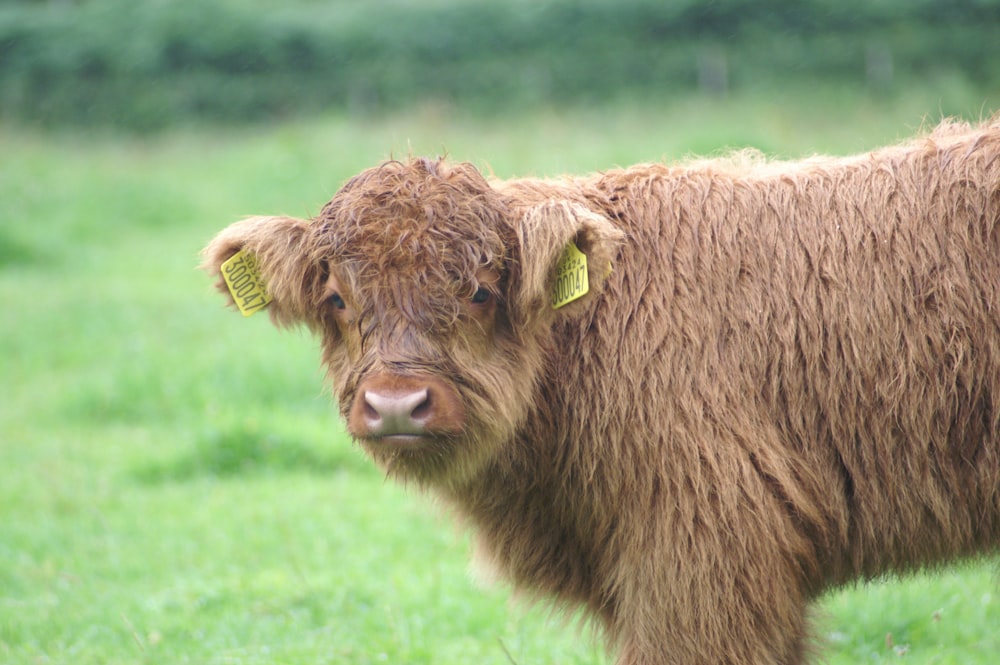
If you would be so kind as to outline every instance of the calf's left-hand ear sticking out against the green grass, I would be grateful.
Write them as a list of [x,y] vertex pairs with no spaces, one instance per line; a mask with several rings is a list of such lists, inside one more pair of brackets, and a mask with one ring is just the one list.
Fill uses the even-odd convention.
[[[276,325],[306,320],[313,309],[318,268],[305,247],[309,222],[294,217],[250,217],[223,229],[202,251],[201,267],[216,278],[215,286],[236,304],[223,271],[239,279],[245,266],[224,264],[242,252],[251,268],[256,266],[261,286],[270,298],[267,309]],[[236,274],[235,271],[239,271]],[[239,288],[239,287],[237,287]],[[256,302],[250,303],[253,307]],[[241,307],[241,309],[243,309]]]

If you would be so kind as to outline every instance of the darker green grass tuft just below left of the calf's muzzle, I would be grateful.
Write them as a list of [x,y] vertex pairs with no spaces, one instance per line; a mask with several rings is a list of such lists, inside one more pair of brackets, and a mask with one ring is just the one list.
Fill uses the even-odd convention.
[[346,442],[318,450],[278,433],[262,433],[249,425],[208,429],[194,446],[173,461],[136,469],[140,482],[163,483],[200,477],[231,478],[252,474],[315,473],[337,471],[372,473],[372,467]]

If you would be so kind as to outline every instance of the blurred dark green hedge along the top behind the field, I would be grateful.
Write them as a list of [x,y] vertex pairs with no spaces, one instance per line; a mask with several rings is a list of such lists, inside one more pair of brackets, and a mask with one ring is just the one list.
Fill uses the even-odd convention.
[[0,0],[0,119],[43,125],[946,76],[1000,86],[1000,0]]

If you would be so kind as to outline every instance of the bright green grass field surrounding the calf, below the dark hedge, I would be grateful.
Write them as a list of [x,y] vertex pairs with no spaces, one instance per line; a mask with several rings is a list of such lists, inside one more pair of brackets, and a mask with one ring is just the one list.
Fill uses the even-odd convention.
[[[313,214],[390,155],[510,176],[847,153],[998,106],[817,90],[146,139],[0,127],[0,662],[608,662],[572,621],[470,580],[466,535],[343,435],[317,344],[225,310],[200,248],[247,214]],[[829,662],[996,662],[994,572],[830,595]]]

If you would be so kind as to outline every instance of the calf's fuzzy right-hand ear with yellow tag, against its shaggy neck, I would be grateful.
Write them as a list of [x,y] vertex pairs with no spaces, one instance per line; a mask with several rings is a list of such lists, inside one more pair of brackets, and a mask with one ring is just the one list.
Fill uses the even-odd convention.
[[528,209],[517,224],[519,257],[510,294],[515,320],[531,326],[582,311],[603,290],[624,238],[611,220],[578,203],[550,201]]

